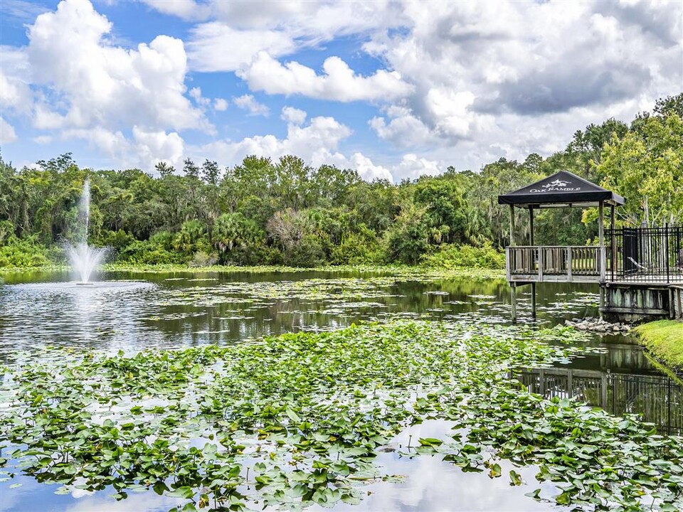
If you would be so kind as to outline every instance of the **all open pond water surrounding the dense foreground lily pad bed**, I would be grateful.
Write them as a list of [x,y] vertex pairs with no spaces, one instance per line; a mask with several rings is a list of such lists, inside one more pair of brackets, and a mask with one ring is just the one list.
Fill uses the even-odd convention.
[[[101,282],[80,286],[70,282],[68,273],[5,274],[0,285],[1,360],[40,361],[52,347],[112,354],[209,344],[229,347],[262,336],[321,333],[361,321],[438,320],[475,332],[478,326],[488,331],[509,326],[509,288],[504,279],[352,272],[109,272],[100,278]],[[529,295],[518,295],[520,324],[551,327],[575,316],[597,315],[596,287],[541,284],[538,291],[536,320],[528,316]],[[682,391],[652,366],[640,347],[623,336],[587,336],[571,343],[593,351],[551,368],[523,368],[515,378],[546,398],[577,397],[615,415],[640,413],[660,432],[681,431]],[[402,430],[388,442],[391,449],[380,451],[375,461],[396,478],[363,486],[359,504],[339,501],[335,510],[556,508],[525,496],[534,489],[531,486],[462,471],[443,462],[443,457],[406,456],[411,439],[443,437],[451,428],[452,422],[435,418]],[[499,464],[506,475],[514,468],[525,482],[535,481],[536,466]],[[549,494],[555,489],[548,482],[541,488]],[[59,484],[38,484],[18,475],[0,483],[0,509],[167,511],[186,503],[143,489],[123,501],[110,497],[112,489],[55,494],[58,489]]]

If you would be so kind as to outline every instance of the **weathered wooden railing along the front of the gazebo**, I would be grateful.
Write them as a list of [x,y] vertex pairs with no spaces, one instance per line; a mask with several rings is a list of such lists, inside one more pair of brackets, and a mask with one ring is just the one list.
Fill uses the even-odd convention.
[[517,245],[506,247],[508,281],[599,282],[605,277],[605,247]]

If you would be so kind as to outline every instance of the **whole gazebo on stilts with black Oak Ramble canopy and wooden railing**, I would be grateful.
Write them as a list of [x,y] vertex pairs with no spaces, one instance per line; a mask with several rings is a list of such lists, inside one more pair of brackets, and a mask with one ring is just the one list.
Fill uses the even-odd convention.
[[[610,207],[611,227],[615,225],[616,206],[622,196],[569,171],[559,171],[531,185],[498,196],[498,204],[510,207],[510,245],[505,248],[507,280],[510,283],[512,317],[517,318],[517,286],[531,284],[531,311],[536,316],[537,282],[605,282],[605,206]],[[529,245],[514,240],[514,208],[529,212]],[[598,208],[598,245],[534,245],[534,210],[539,208]],[[614,230],[610,230],[614,237]],[[614,246],[613,240],[610,246]],[[615,251],[610,251],[615,257]],[[615,267],[615,265],[610,265]],[[603,306],[600,288],[600,306]]]

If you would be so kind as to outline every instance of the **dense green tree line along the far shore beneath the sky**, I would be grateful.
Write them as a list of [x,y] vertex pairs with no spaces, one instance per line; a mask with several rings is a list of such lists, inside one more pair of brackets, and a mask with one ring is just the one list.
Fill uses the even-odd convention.
[[[158,176],[80,169],[70,154],[23,169],[0,160],[0,266],[58,257],[46,247],[74,238],[85,178],[92,183],[90,242],[113,247],[118,262],[137,264],[445,262],[456,254],[438,253],[445,244],[504,247],[509,211],[498,206],[499,193],[559,170],[623,194],[619,223],[673,222],[683,215],[682,104],[683,95],[661,100],[630,127],[614,119],[591,124],[547,159],[500,159],[476,173],[451,167],[395,185],[329,165],[313,169],[296,156],[249,156],[224,171],[213,161],[186,159],[177,172],[158,164]],[[524,216],[519,212],[517,240],[529,234]],[[581,210],[543,210],[536,242],[583,244],[597,234],[594,217],[587,210],[582,223]]]

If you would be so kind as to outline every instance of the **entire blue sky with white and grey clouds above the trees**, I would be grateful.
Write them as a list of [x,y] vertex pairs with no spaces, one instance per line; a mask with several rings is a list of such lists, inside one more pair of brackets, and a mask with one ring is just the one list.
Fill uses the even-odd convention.
[[0,2],[0,146],[367,179],[548,156],[682,90],[679,1]]

